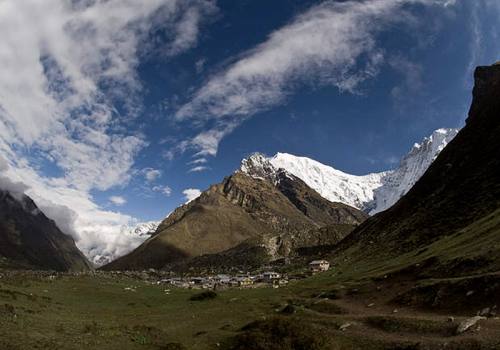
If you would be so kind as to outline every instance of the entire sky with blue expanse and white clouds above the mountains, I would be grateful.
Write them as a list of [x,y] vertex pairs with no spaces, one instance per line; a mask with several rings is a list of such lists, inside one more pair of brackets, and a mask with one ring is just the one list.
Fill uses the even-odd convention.
[[351,174],[462,127],[498,0],[0,0],[0,186],[92,259],[253,152]]

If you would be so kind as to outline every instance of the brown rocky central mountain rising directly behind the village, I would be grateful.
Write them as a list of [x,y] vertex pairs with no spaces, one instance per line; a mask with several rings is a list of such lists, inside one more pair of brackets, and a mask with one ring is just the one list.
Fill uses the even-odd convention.
[[[284,171],[272,177],[237,171],[175,210],[144,244],[104,269],[162,268],[210,255],[206,260],[220,260],[214,254],[252,260],[250,251],[263,260],[277,259],[303,246],[336,243],[344,236],[339,232],[350,232],[366,217]],[[343,229],[325,229],[335,225]]]

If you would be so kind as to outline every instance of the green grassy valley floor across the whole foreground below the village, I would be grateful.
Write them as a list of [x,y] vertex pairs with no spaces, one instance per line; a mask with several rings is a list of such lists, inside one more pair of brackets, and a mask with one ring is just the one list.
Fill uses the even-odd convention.
[[[329,271],[283,288],[191,300],[201,291],[111,274],[3,274],[0,349],[499,349],[496,299],[472,295],[500,285],[500,275],[474,278],[466,285],[476,290],[457,299],[433,286],[461,290],[468,279],[347,282]],[[456,335],[485,307],[488,318]]]

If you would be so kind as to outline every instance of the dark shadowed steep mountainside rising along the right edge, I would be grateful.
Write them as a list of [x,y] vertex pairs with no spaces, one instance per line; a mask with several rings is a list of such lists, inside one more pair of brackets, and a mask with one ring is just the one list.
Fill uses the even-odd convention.
[[466,126],[407,195],[341,242],[337,261],[359,273],[415,263],[436,276],[500,270],[499,135],[500,66],[479,67]]

